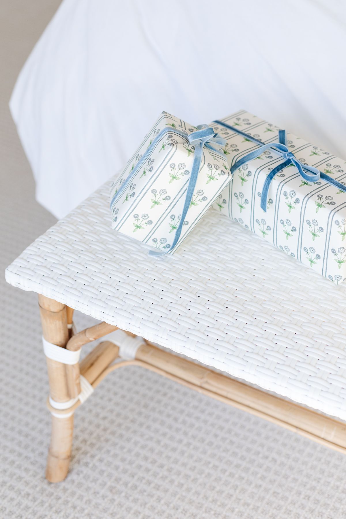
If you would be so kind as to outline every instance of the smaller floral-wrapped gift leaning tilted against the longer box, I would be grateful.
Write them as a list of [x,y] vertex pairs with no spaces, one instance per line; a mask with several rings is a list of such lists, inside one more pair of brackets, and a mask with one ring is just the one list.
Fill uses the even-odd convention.
[[163,112],[110,190],[112,227],[173,252],[230,182],[226,142]]

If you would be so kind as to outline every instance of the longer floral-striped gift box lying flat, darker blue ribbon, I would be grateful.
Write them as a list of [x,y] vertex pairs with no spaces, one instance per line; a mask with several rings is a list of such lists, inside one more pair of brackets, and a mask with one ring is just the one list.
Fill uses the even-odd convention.
[[339,284],[346,277],[345,161],[244,111],[213,122],[233,180],[213,207]]

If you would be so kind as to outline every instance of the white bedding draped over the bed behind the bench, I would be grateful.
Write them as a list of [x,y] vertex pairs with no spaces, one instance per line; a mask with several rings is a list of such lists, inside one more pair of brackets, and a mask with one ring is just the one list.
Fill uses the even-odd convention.
[[64,0],[10,101],[36,197],[64,216],[165,110],[245,108],[346,158],[346,7],[337,0]]

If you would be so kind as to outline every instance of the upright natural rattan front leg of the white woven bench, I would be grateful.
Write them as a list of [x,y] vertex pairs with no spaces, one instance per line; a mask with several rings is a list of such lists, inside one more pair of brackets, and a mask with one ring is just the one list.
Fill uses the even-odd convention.
[[[43,336],[50,343],[65,347],[68,341],[66,307],[53,299],[38,296]],[[49,394],[56,402],[70,400],[65,365],[47,358]],[[65,479],[70,465],[73,436],[73,413],[64,418],[52,415],[51,440],[46,478],[52,483]]]

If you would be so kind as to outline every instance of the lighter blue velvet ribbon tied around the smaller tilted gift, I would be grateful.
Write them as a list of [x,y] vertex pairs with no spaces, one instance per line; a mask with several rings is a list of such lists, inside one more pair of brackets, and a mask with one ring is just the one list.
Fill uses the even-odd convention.
[[189,182],[187,185],[187,190],[185,194],[185,201],[184,201],[184,207],[182,210],[182,215],[179,221],[179,225],[175,231],[175,236],[173,243],[170,247],[170,249],[165,251],[149,251],[150,256],[163,256],[164,254],[167,254],[168,252],[171,252],[175,245],[177,244],[181,234],[182,229],[184,225],[184,220],[187,214],[187,211],[190,207],[190,203],[192,200],[193,192],[195,190],[197,177],[199,173],[199,169],[201,166],[201,161],[203,157],[203,147],[206,147],[210,149],[213,153],[217,153],[221,157],[224,156],[223,152],[219,151],[215,146],[225,146],[226,140],[223,139],[220,135],[214,132],[213,128],[210,128],[207,125],[199,125],[197,126],[198,130],[190,133],[188,136],[186,133],[181,132],[177,130],[176,128],[172,130],[172,128],[164,128],[160,131],[160,133],[156,136],[154,141],[151,143],[151,145],[148,147],[146,152],[144,153],[143,157],[141,158],[140,162],[137,162],[137,165],[135,168],[130,172],[128,175],[126,181],[124,181],[117,193],[114,195],[112,201],[110,202],[110,207],[113,206],[113,204],[118,200],[121,196],[121,194],[124,192],[125,189],[127,189],[128,185],[130,184],[131,180],[133,179],[134,175],[137,173],[137,171],[142,167],[142,165],[146,162],[148,156],[150,155],[151,151],[153,150],[153,147],[157,144],[159,140],[162,139],[162,135],[164,133],[176,133],[178,135],[181,135],[185,138],[187,138],[192,146],[195,146],[195,154],[193,156],[193,164],[192,169],[190,173]]

